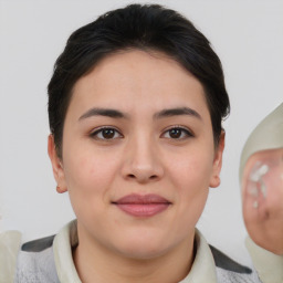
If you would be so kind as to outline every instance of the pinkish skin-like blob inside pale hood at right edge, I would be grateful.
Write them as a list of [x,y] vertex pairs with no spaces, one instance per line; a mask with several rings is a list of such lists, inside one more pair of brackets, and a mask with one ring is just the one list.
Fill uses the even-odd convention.
[[[254,168],[260,166],[269,168],[262,176],[265,197],[260,182],[251,180]],[[251,239],[268,251],[283,254],[283,148],[258,151],[249,158],[243,174],[242,195],[243,217]]]

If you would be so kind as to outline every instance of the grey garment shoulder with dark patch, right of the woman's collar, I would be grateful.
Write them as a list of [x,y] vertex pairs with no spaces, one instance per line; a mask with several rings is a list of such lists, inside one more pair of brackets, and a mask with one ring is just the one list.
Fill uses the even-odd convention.
[[212,245],[209,248],[216,262],[218,282],[261,283],[254,270],[235,262]]

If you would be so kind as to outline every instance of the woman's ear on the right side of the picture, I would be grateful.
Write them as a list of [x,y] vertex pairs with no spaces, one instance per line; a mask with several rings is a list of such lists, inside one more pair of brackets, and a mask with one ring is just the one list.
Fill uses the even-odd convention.
[[222,130],[218,147],[216,148],[216,153],[214,153],[212,175],[209,184],[209,187],[211,188],[217,188],[220,185],[219,176],[222,168],[222,157],[223,157],[224,146],[226,146],[226,133],[224,130]]

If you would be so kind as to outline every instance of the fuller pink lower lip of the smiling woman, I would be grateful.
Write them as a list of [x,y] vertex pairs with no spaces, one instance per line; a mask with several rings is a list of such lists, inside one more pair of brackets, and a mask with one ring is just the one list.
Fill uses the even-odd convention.
[[153,217],[165,211],[169,203],[116,203],[116,206],[134,217]]

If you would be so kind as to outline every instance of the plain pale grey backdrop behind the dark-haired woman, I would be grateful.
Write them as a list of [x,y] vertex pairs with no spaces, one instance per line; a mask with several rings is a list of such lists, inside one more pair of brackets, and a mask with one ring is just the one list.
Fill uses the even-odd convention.
[[[283,101],[283,1],[166,0],[211,41],[231,99],[221,186],[211,189],[198,228],[233,259],[250,264],[238,178],[254,126]],[[0,0],[0,232],[23,241],[54,234],[74,218],[57,195],[46,153],[46,85],[72,31],[129,1]]]

